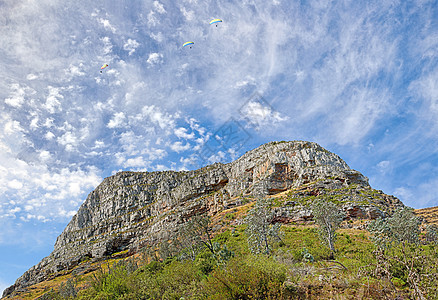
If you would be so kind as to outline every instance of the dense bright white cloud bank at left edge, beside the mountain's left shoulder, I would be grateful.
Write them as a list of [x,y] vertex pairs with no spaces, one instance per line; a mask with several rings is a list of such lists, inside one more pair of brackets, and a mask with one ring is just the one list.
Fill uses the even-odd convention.
[[14,199],[9,201],[9,213],[32,212],[21,216],[25,220],[57,219],[59,216],[52,211],[54,206],[68,207],[66,199],[85,199],[85,193],[101,182],[98,170],[93,167],[49,170],[45,164],[26,163],[5,152],[0,154],[0,166],[4,168],[0,173],[0,196]]

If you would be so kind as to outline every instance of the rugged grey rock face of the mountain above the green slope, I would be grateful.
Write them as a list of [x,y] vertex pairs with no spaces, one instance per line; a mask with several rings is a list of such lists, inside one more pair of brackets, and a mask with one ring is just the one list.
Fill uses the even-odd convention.
[[[271,142],[229,164],[195,171],[120,172],[91,192],[57,238],[53,252],[5,290],[6,297],[71,269],[85,259],[134,253],[159,241],[197,213],[214,215],[242,197],[276,195],[286,201],[274,221],[312,218],[315,198],[339,202],[348,218],[376,218],[403,204],[371,189],[368,179],[337,155],[303,141]],[[284,194],[284,193],[283,193]]]

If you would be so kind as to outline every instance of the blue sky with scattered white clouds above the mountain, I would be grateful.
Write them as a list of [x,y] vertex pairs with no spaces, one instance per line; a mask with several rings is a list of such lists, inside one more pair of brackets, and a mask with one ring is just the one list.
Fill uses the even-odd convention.
[[103,178],[270,141],[437,206],[437,2],[1,0],[0,290]]

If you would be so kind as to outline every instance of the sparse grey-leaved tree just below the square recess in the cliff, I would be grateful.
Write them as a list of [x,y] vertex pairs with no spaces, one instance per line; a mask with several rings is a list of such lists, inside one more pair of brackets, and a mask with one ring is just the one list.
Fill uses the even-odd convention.
[[246,217],[246,233],[251,252],[269,254],[274,241],[281,241],[280,223],[271,224],[272,201],[258,199]]

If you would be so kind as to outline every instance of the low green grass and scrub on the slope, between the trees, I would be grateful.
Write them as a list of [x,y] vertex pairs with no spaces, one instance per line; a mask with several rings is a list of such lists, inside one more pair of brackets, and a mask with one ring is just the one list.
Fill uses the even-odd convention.
[[[374,246],[364,231],[339,230],[333,262],[312,225],[283,226],[283,242],[274,245],[269,257],[250,253],[244,230],[240,225],[215,236],[235,254],[225,265],[218,265],[208,252],[195,261],[131,257],[139,267],[130,270],[129,260],[109,260],[75,278],[81,289],[75,299],[380,299],[384,294],[409,293],[402,279],[394,280],[398,290],[388,291],[378,278],[358,275],[375,263]],[[303,261],[304,248],[314,262]],[[72,273],[42,282],[20,299],[35,299],[52,289],[52,299],[67,299],[56,291],[70,278]]]

